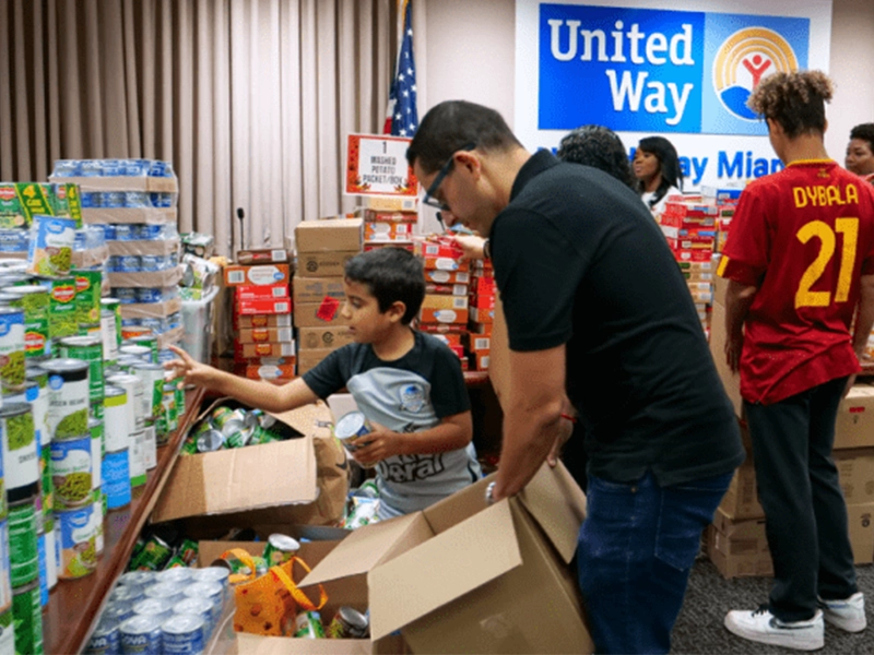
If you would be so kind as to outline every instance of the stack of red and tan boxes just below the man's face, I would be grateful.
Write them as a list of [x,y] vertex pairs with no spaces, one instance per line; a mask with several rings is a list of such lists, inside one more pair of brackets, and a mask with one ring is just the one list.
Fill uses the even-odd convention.
[[416,241],[414,252],[425,267],[425,299],[418,313],[418,329],[448,345],[468,370],[464,353],[468,334],[470,265],[459,261],[461,250],[448,240]]

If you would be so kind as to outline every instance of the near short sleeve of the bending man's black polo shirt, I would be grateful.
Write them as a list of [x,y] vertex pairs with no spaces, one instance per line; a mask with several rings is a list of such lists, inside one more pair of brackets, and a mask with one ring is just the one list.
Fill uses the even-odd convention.
[[505,210],[495,222],[492,258],[510,349],[547,350],[567,343],[586,258],[553,223],[524,210]]

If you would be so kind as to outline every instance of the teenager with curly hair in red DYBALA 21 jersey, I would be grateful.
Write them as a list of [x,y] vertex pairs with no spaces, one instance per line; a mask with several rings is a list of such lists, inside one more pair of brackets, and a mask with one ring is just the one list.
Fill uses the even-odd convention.
[[824,619],[865,629],[831,446],[874,323],[874,190],[826,153],[831,93],[818,71],[754,91],[786,168],[741,194],[719,265],[775,571],[769,603],[730,611],[725,627],[804,651],[823,647]]

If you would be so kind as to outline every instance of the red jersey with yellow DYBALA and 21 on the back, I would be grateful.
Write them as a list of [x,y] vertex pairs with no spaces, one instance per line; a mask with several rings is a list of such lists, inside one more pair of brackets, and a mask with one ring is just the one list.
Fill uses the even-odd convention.
[[771,404],[859,372],[850,325],[874,273],[874,190],[832,160],[794,162],[744,189],[718,274],[758,290],[741,395]]

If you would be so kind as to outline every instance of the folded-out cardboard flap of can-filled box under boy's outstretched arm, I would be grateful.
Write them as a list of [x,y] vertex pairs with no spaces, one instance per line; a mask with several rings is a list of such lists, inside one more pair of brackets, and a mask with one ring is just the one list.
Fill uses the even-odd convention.
[[180,456],[152,522],[309,503],[317,497],[312,437]]

